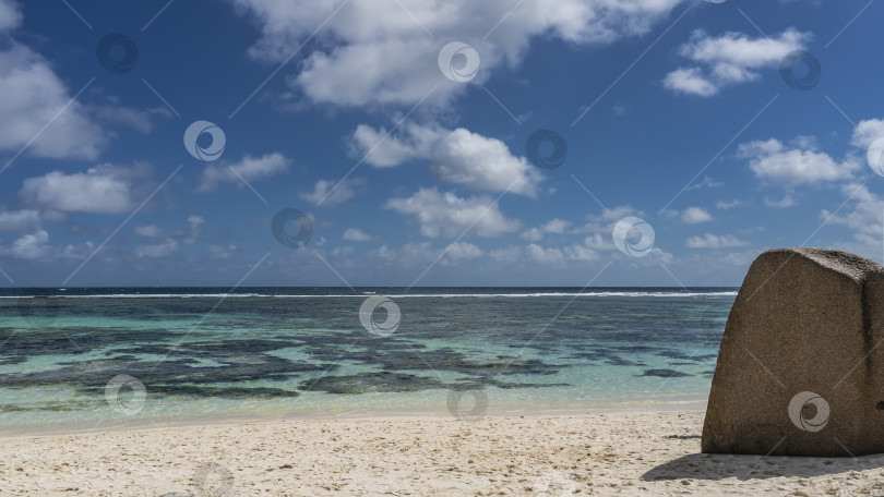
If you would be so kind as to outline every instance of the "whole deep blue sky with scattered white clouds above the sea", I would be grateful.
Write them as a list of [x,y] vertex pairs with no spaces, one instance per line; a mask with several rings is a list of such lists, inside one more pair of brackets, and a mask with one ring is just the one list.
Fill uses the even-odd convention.
[[[739,286],[775,246],[880,262],[882,9],[0,0],[0,283]],[[198,121],[219,154],[186,147]]]

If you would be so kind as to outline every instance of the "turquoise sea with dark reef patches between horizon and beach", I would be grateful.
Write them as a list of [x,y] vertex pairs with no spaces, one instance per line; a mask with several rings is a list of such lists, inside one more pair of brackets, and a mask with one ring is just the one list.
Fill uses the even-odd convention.
[[0,289],[0,431],[702,401],[736,294]]

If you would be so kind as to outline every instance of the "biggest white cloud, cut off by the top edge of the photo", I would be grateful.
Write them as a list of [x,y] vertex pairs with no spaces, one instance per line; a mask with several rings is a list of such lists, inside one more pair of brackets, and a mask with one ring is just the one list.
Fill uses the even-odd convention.
[[333,15],[343,0],[231,1],[261,31],[249,54],[272,63],[286,60],[328,20],[319,35],[325,43],[304,54],[288,83],[311,101],[335,106],[410,106],[432,87],[437,90],[428,105],[450,101],[468,86],[447,81],[439,71],[439,50],[451,40],[478,51],[481,64],[473,84],[481,84],[498,68],[517,64],[533,37],[609,44],[647,33],[680,3],[526,0],[513,9],[509,2],[351,0]]

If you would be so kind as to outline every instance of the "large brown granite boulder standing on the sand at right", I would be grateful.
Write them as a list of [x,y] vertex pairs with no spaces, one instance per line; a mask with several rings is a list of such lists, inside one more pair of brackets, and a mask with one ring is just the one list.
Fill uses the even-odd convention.
[[884,452],[882,341],[884,266],[841,251],[765,252],[728,317],[703,452]]

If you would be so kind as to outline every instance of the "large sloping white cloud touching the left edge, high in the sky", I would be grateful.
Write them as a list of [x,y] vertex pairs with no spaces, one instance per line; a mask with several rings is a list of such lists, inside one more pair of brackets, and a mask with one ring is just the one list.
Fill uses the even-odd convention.
[[[0,19],[2,15],[0,9]],[[0,116],[3,150],[17,151],[39,134],[28,148],[29,155],[95,159],[106,143],[84,106],[71,101],[70,92],[49,62],[14,41],[0,51]]]

